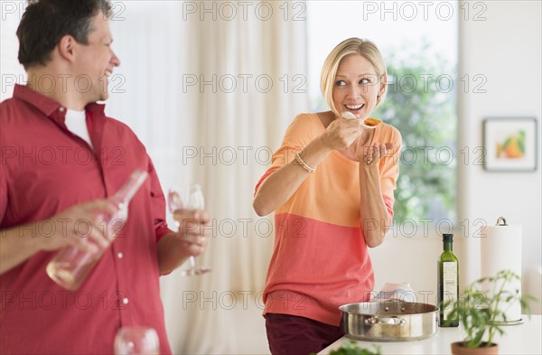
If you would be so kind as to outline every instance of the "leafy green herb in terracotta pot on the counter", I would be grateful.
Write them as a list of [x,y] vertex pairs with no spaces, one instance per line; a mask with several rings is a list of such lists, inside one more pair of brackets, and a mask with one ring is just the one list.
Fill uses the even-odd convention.
[[530,313],[528,301],[534,300],[529,295],[521,296],[519,289],[509,289],[510,283],[519,281],[517,274],[502,270],[496,276],[474,281],[459,301],[444,304],[444,307],[452,307],[450,318],[459,317],[465,332],[463,341],[452,344],[453,354],[499,353],[495,336],[504,333],[502,326],[508,321],[506,312],[510,305],[519,302],[522,309]]

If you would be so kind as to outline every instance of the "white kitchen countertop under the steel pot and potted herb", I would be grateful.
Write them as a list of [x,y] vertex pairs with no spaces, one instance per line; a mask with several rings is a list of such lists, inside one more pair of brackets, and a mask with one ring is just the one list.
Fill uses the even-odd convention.
[[[531,315],[523,324],[504,326],[504,335],[496,336],[499,343],[500,355],[505,354],[542,354],[542,315]],[[435,336],[424,341],[374,342],[357,341],[362,348],[373,349],[377,344],[382,354],[451,354],[450,344],[461,341],[460,328],[438,328]],[[331,350],[341,348],[343,341],[350,338],[342,337],[319,354],[328,354]]]

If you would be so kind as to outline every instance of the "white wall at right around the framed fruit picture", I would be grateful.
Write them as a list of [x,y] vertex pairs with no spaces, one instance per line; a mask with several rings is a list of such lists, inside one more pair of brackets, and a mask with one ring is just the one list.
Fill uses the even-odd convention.
[[[484,21],[459,25],[459,78],[482,74],[486,93],[459,90],[458,151],[482,145],[484,117],[536,117],[538,156],[535,173],[488,173],[463,159],[459,164],[459,220],[486,220],[495,224],[500,216],[523,227],[523,292],[542,300],[540,266],[540,78],[541,2],[483,2]],[[463,5],[468,5],[463,3]],[[472,2],[471,2],[472,6]],[[462,88],[463,89],[463,88]],[[463,155],[460,155],[464,158]],[[467,282],[480,276],[480,239],[465,238],[463,270]],[[538,273],[535,276],[534,273]],[[528,285],[530,284],[530,285]],[[539,313],[539,305],[537,312]]]

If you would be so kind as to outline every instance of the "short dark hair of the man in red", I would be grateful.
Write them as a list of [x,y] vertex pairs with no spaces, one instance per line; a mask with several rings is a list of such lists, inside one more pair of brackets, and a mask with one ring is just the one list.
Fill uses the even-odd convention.
[[108,0],[29,0],[17,28],[19,62],[24,69],[51,61],[51,51],[70,34],[79,43],[89,43],[96,14],[111,16]]

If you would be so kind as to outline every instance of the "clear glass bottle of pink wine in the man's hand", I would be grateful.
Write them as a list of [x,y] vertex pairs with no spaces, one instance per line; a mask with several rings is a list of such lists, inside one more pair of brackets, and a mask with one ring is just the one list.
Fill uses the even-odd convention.
[[[109,244],[125,225],[128,218],[128,204],[134,197],[135,192],[145,182],[147,176],[148,173],[145,171],[136,170],[130,175],[128,181],[113,196],[107,199],[117,207],[117,211],[113,215],[99,216],[105,222],[103,233]],[[101,251],[98,253],[81,250],[74,246],[62,248],[47,265],[47,275],[51,277],[52,281],[65,289],[77,290],[103,255],[105,249],[99,248]]]

